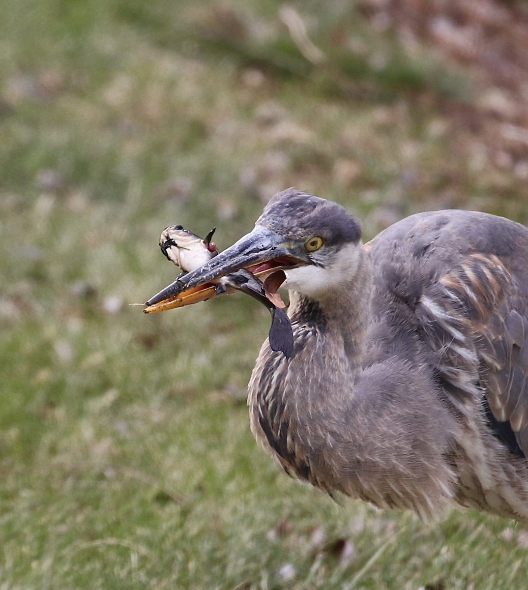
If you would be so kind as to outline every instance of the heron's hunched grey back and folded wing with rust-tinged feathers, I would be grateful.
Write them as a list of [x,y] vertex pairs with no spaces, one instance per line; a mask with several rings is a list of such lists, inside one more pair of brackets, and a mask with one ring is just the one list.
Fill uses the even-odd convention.
[[451,402],[464,411],[465,397],[484,394],[490,427],[528,457],[526,228],[486,214],[432,212],[393,225],[367,249],[382,268],[421,284],[409,324]]

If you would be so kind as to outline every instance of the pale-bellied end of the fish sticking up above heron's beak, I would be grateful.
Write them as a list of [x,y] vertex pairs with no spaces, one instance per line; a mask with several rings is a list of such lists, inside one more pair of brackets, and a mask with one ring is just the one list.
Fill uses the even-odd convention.
[[215,229],[201,238],[182,225],[169,225],[161,234],[159,247],[168,260],[188,273],[218,254],[217,245],[211,241]]

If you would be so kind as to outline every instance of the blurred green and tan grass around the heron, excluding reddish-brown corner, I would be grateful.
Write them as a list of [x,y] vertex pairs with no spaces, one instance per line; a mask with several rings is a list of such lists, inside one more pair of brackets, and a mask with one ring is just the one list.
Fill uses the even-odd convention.
[[222,249],[290,185],[366,238],[426,209],[528,222],[513,90],[383,4],[0,1],[2,590],[526,588],[526,527],[276,471],[250,298],[129,306],[175,277],[166,225]]

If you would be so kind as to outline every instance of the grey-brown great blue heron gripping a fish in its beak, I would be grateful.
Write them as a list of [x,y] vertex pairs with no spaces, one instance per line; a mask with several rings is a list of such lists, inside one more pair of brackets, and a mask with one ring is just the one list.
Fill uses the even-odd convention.
[[291,358],[264,342],[251,429],[330,494],[438,515],[451,500],[528,522],[528,230],[470,211],[412,215],[363,245],[343,207],[296,189],[147,304],[283,271]]

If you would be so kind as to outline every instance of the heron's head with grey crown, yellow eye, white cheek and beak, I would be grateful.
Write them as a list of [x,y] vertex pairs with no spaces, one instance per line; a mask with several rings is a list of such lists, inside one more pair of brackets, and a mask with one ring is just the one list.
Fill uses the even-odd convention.
[[359,224],[341,205],[290,188],[271,198],[250,233],[149,299],[146,312],[214,297],[215,284],[241,268],[317,298],[342,281],[360,250]]

